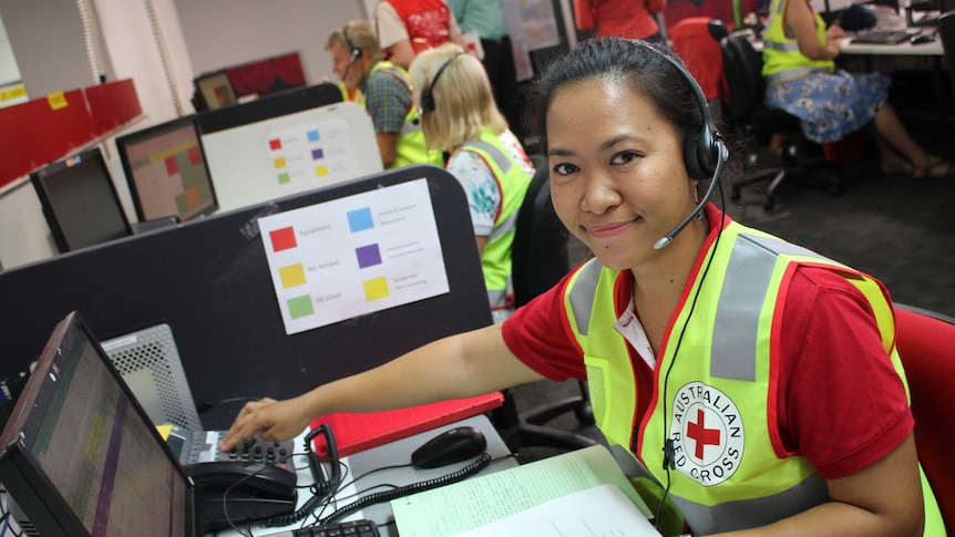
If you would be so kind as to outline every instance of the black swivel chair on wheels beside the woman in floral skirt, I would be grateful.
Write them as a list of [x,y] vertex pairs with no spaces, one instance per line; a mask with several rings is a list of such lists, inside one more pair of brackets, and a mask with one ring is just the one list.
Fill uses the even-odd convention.
[[[730,198],[740,199],[743,187],[770,180],[766,189],[763,207],[772,210],[777,195],[787,182],[821,184],[833,194],[842,193],[842,169],[833,162],[801,162],[797,135],[799,120],[782,110],[766,106],[763,96],[766,82],[762,78],[762,54],[753,49],[743,35],[731,35],[720,43],[723,69],[726,70],[729,102],[723,117],[728,120],[730,132],[741,136],[747,144],[749,164],[756,164],[757,141],[773,134],[784,136],[782,162],[778,167],[757,167],[752,173],[731,185]],[[829,173],[819,173],[826,171]]]

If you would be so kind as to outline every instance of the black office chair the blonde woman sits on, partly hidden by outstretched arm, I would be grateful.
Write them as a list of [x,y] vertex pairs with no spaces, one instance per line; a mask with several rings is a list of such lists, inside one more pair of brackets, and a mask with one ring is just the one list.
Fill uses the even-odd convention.
[[[547,159],[532,155],[536,168],[524,203],[517,210],[511,275],[514,303],[517,308],[546,291],[571,271],[567,257],[567,228],[557,219],[551,202]],[[593,438],[546,425],[551,420],[573,412],[582,425],[594,424],[594,412],[586,383],[579,383],[581,395],[518,413],[513,393],[504,391],[504,404],[494,414],[494,424],[512,452],[522,446],[546,446],[576,450],[596,444]]]

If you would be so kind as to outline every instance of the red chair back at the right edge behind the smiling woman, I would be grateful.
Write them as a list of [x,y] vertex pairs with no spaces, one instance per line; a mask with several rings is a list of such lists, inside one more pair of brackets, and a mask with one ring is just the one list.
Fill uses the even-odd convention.
[[912,396],[918,461],[942,509],[947,533],[955,533],[955,319],[895,304],[895,345]]

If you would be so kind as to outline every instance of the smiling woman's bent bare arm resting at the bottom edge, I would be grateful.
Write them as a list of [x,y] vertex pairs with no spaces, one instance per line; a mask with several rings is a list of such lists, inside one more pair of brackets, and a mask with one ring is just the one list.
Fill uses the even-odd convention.
[[922,483],[910,435],[876,463],[826,481],[830,502],[761,528],[720,534],[757,536],[921,536]]

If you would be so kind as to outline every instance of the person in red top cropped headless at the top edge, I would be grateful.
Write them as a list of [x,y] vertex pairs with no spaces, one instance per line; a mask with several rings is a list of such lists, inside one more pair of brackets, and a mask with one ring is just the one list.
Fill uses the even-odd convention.
[[574,0],[577,29],[597,38],[663,41],[656,13],[665,9],[667,0]]

